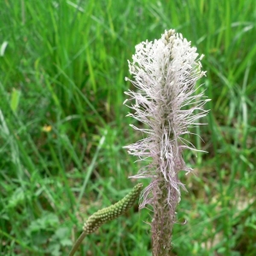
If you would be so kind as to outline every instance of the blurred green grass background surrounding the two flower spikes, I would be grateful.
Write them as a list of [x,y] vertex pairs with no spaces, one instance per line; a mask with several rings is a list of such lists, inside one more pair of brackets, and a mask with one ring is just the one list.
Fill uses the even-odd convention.
[[[173,255],[255,255],[255,26],[254,0],[1,1],[1,255],[67,254],[90,213],[137,183],[127,59],[170,28],[206,55],[212,99],[203,141],[191,137],[208,154],[184,155],[195,175],[181,177]],[[78,254],[151,255],[147,221],[135,207]]]

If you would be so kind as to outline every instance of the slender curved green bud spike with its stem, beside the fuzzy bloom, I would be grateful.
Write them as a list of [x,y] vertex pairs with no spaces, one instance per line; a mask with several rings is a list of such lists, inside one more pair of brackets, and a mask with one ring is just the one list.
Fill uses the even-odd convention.
[[137,201],[142,189],[143,184],[138,183],[122,200],[110,207],[103,208],[102,210],[92,214],[84,223],[84,231],[81,236],[79,236],[79,239],[75,242],[69,256],[73,256],[86,235],[95,232],[102,224],[114,218],[118,218],[121,214],[125,213],[129,208],[131,208],[135,201]]

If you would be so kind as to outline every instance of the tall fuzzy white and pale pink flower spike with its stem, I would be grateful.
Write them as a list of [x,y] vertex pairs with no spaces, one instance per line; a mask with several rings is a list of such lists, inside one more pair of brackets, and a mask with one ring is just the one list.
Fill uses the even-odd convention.
[[176,221],[175,210],[180,201],[183,183],[178,172],[191,172],[185,165],[183,149],[196,150],[183,136],[189,134],[189,127],[200,125],[197,119],[205,116],[203,109],[208,101],[202,93],[195,94],[195,82],[205,75],[201,71],[201,57],[196,48],[174,30],[166,31],[159,40],[143,42],[136,46],[129,71],[137,91],[125,92],[128,106],[133,109],[131,116],[145,127],[145,136],[137,143],[126,146],[128,153],[140,160],[149,160],[136,178],[150,178],[143,190],[141,208],[151,205],[153,255],[170,255],[172,226]]

